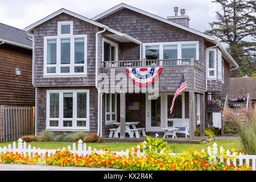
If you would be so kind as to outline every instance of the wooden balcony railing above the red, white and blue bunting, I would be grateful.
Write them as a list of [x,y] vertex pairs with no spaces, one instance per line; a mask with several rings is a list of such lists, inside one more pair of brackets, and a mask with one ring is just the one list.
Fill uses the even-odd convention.
[[184,65],[199,65],[199,61],[191,59],[163,59],[163,60],[121,60],[121,61],[101,61],[102,68],[122,68],[122,67],[172,67]]

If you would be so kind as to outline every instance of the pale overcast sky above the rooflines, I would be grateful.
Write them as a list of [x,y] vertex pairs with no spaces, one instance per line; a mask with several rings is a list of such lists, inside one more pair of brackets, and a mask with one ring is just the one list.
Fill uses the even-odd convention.
[[[119,3],[126,3],[149,13],[162,16],[174,15],[174,7],[185,9],[191,20],[189,26],[204,32],[215,19],[214,11],[220,7],[212,0],[0,0],[0,22],[23,29],[53,12],[65,8],[87,18],[101,14]],[[179,11],[180,14],[180,11]]]

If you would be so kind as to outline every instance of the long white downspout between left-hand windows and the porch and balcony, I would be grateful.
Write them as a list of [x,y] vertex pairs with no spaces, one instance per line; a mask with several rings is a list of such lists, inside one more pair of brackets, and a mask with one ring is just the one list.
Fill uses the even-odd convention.
[[101,34],[102,32],[106,31],[106,27],[103,27],[104,29],[101,31],[96,32],[96,47],[95,47],[95,86],[96,89],[98,90],[98,131],[97,131],[97,135],[100,135],[100,131],[101,131],[101,127],[102,127],[102,122],[101,122],[101,90],[98,87],[98,34]]

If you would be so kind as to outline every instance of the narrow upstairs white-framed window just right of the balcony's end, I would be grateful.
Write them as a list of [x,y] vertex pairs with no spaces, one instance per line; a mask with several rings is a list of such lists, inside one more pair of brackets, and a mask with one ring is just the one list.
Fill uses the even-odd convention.
[[217,73],[216,49],[208,49],[207,51],[207,69],[208,78],[216,79]]

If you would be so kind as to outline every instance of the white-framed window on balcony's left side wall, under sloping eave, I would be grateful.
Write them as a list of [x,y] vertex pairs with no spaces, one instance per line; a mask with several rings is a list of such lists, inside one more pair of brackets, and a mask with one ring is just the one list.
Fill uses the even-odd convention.
[[103,61],[117,61],[118,60],[118,44],[108,39],[103,39]]

